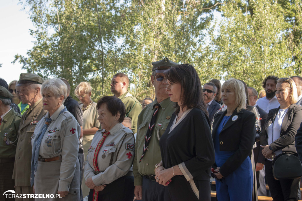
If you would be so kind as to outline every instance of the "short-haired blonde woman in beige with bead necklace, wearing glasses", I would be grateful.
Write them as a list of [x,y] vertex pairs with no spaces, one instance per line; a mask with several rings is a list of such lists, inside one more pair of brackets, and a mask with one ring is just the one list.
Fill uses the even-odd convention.
[[[92,87],[88,82],[81,82],[75,89],[76,97],[82,102],[80,107],[83,111],[83,137],[80,139],[80,142],[83,143],[85,157],[91,145],[92,138],[100,127],[97,104],[91,99],[91,91]],[[89,194],[89,188],[85,185],[85,178],[82,180],[82,191],[83,197]]]

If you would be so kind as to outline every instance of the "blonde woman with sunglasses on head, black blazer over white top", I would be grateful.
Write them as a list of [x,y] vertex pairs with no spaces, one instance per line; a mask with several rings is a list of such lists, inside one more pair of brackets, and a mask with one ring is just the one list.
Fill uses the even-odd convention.
[[260,136],[262,154],[266,158],[265,176],[274,201],[298,200],[300,179],[275,180],[272,172],[273,156],[283,152],[297,153],[295,135],[300,127],[302,107],[295,104],[298,99],[297,88],[291,78],[278,79],[276,97],[280,106],[269,110]]

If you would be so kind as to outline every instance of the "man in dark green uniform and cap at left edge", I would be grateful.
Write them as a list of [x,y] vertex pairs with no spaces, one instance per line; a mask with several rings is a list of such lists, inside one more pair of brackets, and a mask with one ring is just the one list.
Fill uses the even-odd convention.
[[7,190],[14,190],[14,161],[18,129],[22,115],[10,107],[14,96],[4,87],[0,86],[0,200],[8,199]]

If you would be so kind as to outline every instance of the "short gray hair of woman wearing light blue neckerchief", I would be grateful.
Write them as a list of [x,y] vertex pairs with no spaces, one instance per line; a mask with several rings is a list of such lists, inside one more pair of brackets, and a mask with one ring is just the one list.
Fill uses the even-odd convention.
[[49,79],[44,81],[41,91],[42,93],[44,93],[45,91],[50,91],[56,98],[63,95],[64,99],[62,101],[62,104],[67,98],[67,86],[61,79]]

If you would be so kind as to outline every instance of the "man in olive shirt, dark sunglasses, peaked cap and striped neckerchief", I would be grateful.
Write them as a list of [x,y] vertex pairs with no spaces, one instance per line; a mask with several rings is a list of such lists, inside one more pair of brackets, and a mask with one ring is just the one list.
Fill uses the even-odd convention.
[[[172,113],[174,112],[173,102],[170,101],[169,94],[166,92],[167,79],[164,72],[172,66],[178,65],[175,62],[164,58],[157,62],[152,62],[151,82],[155,88],[156,98],[153,103],[147,105],[138,116],[137,138],[135,144],[135,158],[133,161],[134,174],[134,195],[138,200],[144,201],[165,201],[164,186],[159,185],[154,178],[154,168],[161,159],[159,139],[167,128]],[[159,104],[159,105],[158,105]],[[158,107],[158,112],[153,129],[148,129],[153,113]],[[151,126],[152,127],[152,126]],[[145,136],[151,133],[149,143],[145,145]],[[149,136],[150,137],[150,136]],[[148,138],[149,138],[148,137]],[[143,153],[143,147],[147,147]],[[162,166],[158,167],[159,169]],[[167,193],[167,192],[166,192]]]

